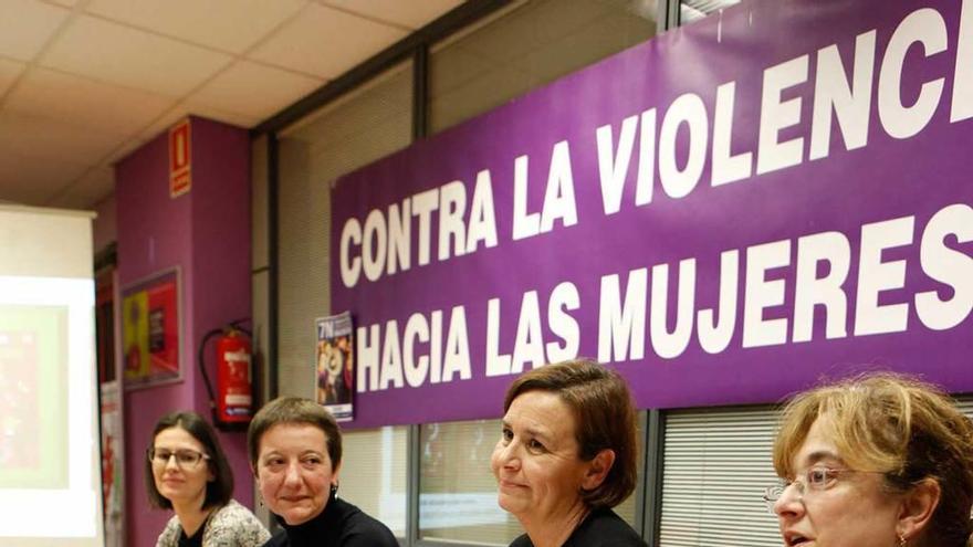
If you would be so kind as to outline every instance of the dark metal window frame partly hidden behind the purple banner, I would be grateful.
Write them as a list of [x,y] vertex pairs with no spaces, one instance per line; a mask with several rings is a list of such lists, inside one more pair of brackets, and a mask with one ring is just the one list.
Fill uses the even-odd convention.
[[[270,400],[280,393],[279,308],[280,308],[280,141],[281,133],[300,120],[313,116],[328,104],[368,85],[373,78],[389,69],[411,60],[412,64],[412,141],[429,136],[429,55],[431,48],[456,33],[489,19],[520,0],[467,0],[456,9],[414,32],[404,40],[379,52],[341,77],[325,84],[306,97],[250,130],[251,147],[259,156],[253,165],[253,241],[260,243],[260,255],[254,256],[251,271],[255,301],[265,303],[254,309],[254,332],[266,333],[265,370],[261,376],[261,395]],[[524,0],[531,1],[531,0]],[[679,27],[681,0],[657,0],[658,34]],[[657,34],[657,35],[658,35]],[[260,232],[260,233],[258,233]],[[644,470],[632,494],[635,496],[635,528],[648,543],[657,545],[661,504],[662,443],[665,411],[637,411],[644,453]],[[420,425],[407,425],[406,475],[406,536],[399,537],[402,547],[468,547],[468,543],[451,543],[419,538],[419,493],[421,443]],[[261,514],[265,512],[260,512]],[[266,515],[264,515],[266,516]]]

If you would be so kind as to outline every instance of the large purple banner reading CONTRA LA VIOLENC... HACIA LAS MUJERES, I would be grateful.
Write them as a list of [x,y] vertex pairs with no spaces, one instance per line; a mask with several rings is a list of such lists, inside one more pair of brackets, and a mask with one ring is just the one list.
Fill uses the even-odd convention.
[[761,0],[417,143],[332,193],[352,425],[576,355],[640,408],[973,391],[971,141],[973,0]]

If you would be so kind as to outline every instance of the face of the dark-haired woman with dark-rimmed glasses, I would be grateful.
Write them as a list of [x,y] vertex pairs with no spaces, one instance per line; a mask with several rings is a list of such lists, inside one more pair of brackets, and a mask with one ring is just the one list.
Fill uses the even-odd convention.
[[[196,464],[180,461],[196,459],[206,454],[202,443],[182,428],[167,428],[153,440],[155,457],[151,461],[153,478],[156,490],[174,505],[202,501],[206,497],[206,483],[215,480],[207,460],[199,457]],[[171,455],[166,459],[166,455]]]

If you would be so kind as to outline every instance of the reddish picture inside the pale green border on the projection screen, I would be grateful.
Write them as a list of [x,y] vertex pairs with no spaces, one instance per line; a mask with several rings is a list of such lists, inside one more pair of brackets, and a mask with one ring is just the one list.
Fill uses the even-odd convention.
[[34,467],[41,431],[32,333],[0,330],[0,467]]

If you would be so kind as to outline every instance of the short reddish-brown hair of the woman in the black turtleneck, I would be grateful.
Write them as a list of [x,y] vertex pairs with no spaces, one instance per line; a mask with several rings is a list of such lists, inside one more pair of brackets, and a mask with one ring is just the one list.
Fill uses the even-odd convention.
[[342,463],[342,430],[331,412],[323,406],[301,397],[279,397],[266,403],[247,430],[247,450],[250,453],[250,466],[257,471],[260,457],[260,441],[269,429],[281,423],[308,424],[324,431],[327,441],[327,455],[333,469]]

